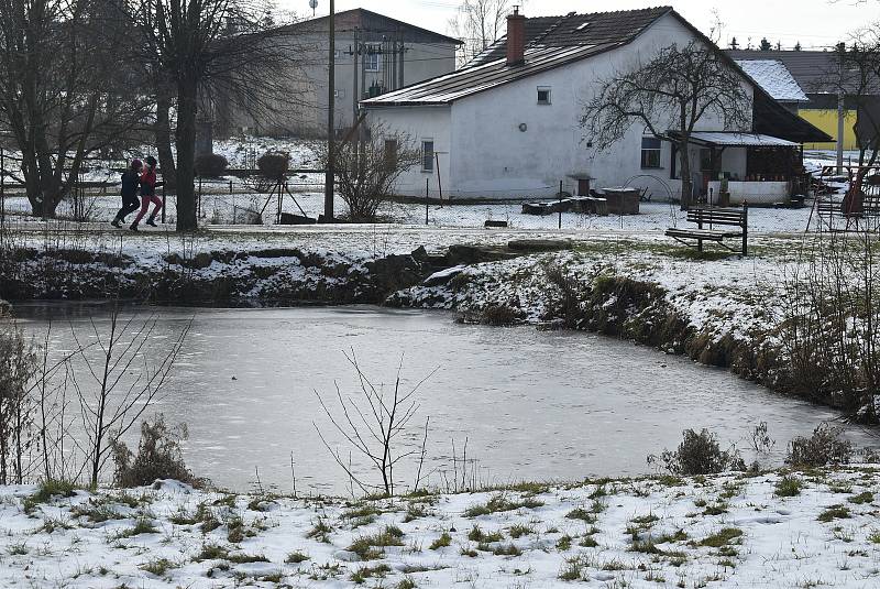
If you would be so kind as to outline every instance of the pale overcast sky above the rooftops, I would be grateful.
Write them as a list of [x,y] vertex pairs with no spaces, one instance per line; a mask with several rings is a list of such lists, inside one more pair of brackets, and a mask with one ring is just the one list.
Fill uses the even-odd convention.
[[[300,17],[311,14],[309,0],[277,0],[278,7]],[[449,33],[449,19],[458,0],[337,0],[337,10],[365,8],[426,29]],[[685,19],[708,33],[717,10],[725,24],[723,41],[736,36],[741,46],[749,37],[758,45],[767,36],[784,46],[800,42],[804,48],[831,47],[847,40],[847,33],[880,20],[880,1],[865,0],[529,0],[526,15],[544,17],[568,12],[600,12],[653,6],[673,6]],[[319,0],[318,14],[327,14],[329,0]]]

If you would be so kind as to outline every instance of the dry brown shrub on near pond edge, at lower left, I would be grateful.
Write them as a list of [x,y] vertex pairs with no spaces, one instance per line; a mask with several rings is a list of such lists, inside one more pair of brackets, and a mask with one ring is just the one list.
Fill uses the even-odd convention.
[[113,460],[117,470],[113,482],[123,488],[151,484],[156,479],[174,479],[188,484],[198,481],[184,463],[180,440],[187,438],[185,424],[170,428],[160,413],[151,424],[141,424],[141,441],[138,454],[121,440],[113,443]]

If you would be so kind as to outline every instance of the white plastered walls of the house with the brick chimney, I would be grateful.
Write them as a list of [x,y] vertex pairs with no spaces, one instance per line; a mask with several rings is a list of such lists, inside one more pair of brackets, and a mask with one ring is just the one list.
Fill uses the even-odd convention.
[[[615,72],[647,62],[658,50],[672,43],[688,44],[693,34],[674,17],[667,15],[650,26],[629,45],[576,62],[491,90],[457,100],[444,118],[437,109],[403,107],[376,108],[370,111],[371,123],[382,121],[388,129],[403,130],[414,139],[446,137],[449,146],[441,154],[439,173],[444,196],[458,198],[525,198],[554,195],[559,182],[574,192],[574,174],[588,173],[593,187],[619,186],[638,175],[659,178],[678,196],[680,183],[670,179],[672,148],[662,144],[661,168],[641,168],[644,126],[634,124],[626,137],[609,150],[596,151],[579,121],[583,105],[601,87],[603,79]],[[538,88],[551,89],[551,105],[539,105]],[[744,88],[752,96],[751,85],[744,78]],[[420,112],[432,113],[426,120]],[[448,133],[438,126],[448,121]],[[525,131],[520,126],[524,126]],[[660,123],[661,129],[674,128]],[[697,130],[718,131],[722,121],[706,116]],[[429,133],[425,135],[424,133]],[[745,151],[726,150],[724,171],[745,175]],[[448,163],[446,162],[448,161]],[[691,149],[692,172],[700,173],[700,149]],[[676,163],[676,168],[680,165]],[[424,196],[425,174],[419,170],[405,173],[396,187],[399,195]],[[433,186],[437,182],[431,183]],[[658,183],[659,184],[659,183]],[[645,183],[642,182],[642,185]],[[654,189],[662,194],[662,189]],[[432,192],[431,196],[436,196]]]

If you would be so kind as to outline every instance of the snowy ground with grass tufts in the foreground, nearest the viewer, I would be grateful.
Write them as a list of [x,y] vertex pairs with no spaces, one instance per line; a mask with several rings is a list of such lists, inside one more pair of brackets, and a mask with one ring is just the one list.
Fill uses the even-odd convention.
[[[0,489],[3,587],[880,583],[876,468],[522,484],[377,501]],[[790,495],[790,497],[787,497]]]

